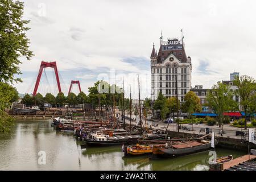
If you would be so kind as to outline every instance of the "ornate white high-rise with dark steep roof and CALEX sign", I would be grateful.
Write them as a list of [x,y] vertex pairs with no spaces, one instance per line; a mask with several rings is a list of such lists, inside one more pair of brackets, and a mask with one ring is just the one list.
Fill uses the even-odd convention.
[[[181,43],[180,43],[181,42]],[[170,39],[162,41],[158,53],[155,46],[151,52],[151,101],[158,98],[162,93],[165,97],[176,97],[181,102],[191,89],[191,57],[187,57],[183,41]],[[177,85],[176,85],[177,79]]]

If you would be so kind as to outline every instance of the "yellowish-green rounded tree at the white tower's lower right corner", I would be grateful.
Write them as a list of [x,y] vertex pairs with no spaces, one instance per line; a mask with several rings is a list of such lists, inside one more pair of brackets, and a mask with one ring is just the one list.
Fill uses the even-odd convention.
[[200,104],[200,98],[192,91],[189,91],[184,97],[183,104],[181,105],[181,110],[184,113],[188,113],[188,117],[191,117],[191,113],[200,112],[202,106]]

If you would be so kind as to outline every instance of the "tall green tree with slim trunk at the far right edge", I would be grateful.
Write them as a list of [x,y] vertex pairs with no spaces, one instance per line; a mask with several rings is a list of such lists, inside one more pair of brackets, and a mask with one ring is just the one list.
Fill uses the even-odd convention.
[[238,106],[237,109],[245,111],[245,129],[247,129],[246,115],[247,111],[255,111],[255,95],[256,95],[256,82],[255,79],[246,75],[237,76],[234,79],[234,85],[238,87],[235,94],[240,98],[240,105],[242,109]]

